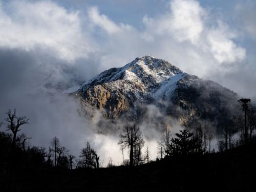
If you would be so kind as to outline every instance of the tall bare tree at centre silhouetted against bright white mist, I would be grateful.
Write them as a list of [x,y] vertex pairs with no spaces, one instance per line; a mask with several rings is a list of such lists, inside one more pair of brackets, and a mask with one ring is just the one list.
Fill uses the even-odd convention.
[[123,133],[120,134],[118,144],[122,147],[129,147],[130,149],[130,166],[134,166],[134,150],[141,150],[144,145],[142,133],[136,124],[125,125]]

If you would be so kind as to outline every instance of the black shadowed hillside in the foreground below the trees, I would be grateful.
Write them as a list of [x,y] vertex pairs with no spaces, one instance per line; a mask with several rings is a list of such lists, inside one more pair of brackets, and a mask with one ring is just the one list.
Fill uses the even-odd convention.
[[138,167],[16,168],[1,191],[255,191],[255,140],[221,153],[172,157]]

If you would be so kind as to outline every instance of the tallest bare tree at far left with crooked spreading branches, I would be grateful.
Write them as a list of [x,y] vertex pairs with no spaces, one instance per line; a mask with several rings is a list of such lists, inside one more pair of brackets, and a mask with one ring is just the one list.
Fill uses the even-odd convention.
[[8,131],[10,130],[12,132],[12,146],[16,146],[16,139],[17,139],[17,133],[20,131],[20,126],[29,124],[29,119],[26,116],[17,117],[16,116],[16,110],[8,110],[7,118],[5,118],[5,121],[8,122],[7,128]]

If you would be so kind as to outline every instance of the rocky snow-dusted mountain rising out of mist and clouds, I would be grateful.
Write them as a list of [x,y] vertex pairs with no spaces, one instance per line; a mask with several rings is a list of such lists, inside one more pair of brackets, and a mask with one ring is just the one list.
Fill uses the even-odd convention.
[[106,70],[72,94],[84,109],[99,109],[106,118],[126,116],[139,121],[145,106],[153,104],[184,125],[195,119],[214,122],[237,101],[237,94],[220,84],[189,75],[152,56]]

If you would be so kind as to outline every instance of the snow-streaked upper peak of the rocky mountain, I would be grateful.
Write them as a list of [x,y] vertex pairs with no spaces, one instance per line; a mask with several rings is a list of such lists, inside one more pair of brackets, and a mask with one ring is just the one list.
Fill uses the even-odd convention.
[[78,91],[86,92],[92,86],[104,84],[111,87],[111,90],[133,93],[139,100],[144,100],[146,95],[153,99],[164,99],[172,95],[176,83],[185,76],[186,73],[165,60],[144,56],[136,58],[124,67],[102,72],[83,83]]

